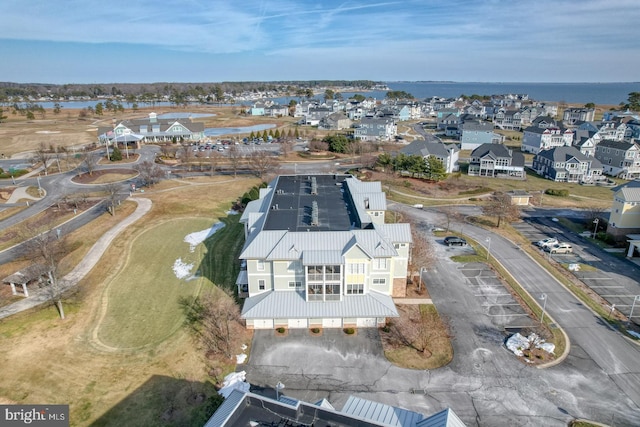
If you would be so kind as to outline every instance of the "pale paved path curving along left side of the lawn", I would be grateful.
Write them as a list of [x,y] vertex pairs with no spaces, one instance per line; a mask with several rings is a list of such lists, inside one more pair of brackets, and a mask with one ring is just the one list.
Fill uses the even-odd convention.
[[[133,224],[140,218],[142,218],[151,209],[151,200],[144,198],[130,198],[138,204],[136,210],[118,222],[113,228],[107,231],[98,241],[89,249],[89,252],[84,256],[82,261],[61,280],[62,291],[72,288],[77,285],[80,280],[86,276],[91,269],[98,263],[102,255],[105,253],[111,242],[129,225]],[[29,298],[25,298],[13,304],[0,308],[0,319],[9,317],[13,314],[19,313],[24,310],[28,310],[37,305],[43,304],[49,301],[49,294],[46,289],[32,292]]]

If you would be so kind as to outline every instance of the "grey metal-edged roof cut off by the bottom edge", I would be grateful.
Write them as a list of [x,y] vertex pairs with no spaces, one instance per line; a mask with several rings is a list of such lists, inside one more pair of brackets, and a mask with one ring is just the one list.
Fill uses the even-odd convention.
[[342,410],[337,410],[327,399],[307,403],[281,395],[275,400],[237,388],[204,427],[238,426],[465,427],[466,424],[450,408],[425,416],[349,396]]

